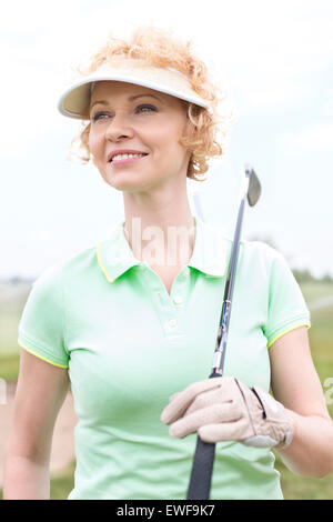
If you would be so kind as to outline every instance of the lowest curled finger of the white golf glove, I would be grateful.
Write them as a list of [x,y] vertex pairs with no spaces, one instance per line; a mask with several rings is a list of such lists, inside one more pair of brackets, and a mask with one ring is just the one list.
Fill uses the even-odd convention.
[[199,435],[204,442],[239,441],[253,435],[248,420],[242,418],[235,422],[211,423],[199,428]]

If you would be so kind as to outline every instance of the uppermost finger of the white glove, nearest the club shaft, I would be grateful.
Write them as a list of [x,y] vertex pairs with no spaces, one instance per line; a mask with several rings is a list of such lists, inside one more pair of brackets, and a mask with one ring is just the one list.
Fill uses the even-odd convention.
[[205,379],[203,381],[198,381],[190,384],[164,408],[160,420],[164,422],[164,424],[174,422],[176,419],[183,415],[184,411],[190,406],[199,393],[220,387],[222,379],[222,377],[215,379]]

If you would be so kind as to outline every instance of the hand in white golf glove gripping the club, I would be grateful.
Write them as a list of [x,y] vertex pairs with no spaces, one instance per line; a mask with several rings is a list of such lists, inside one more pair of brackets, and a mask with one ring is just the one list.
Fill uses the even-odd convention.
[[293,436],[284,406],[259,387],[221,377],[194,382],[171,396],[161,414],[169,433],[198,432],[205,442],[238,441],[256,448],[286,448]]

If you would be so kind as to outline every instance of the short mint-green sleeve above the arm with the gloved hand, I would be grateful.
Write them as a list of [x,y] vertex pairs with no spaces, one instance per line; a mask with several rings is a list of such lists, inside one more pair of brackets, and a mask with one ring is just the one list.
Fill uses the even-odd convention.
[[270,274],[268,320],[263,329],[268,348],[295,328],[311,328],[310,311],[301,288],[284,257],[278,251],[275,254]]

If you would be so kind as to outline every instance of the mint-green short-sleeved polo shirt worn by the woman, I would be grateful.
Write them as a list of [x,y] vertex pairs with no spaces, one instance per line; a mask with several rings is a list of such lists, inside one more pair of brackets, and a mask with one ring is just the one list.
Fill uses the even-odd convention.
[[[232,240],[195,217],[191,260],[171,294],[133,257],[124,222],[33,283],[19,344],[68,368],[78,424],[69,499],[185,499],[196,434],[172,439],[169,396],[206,379]],[[310,313],[286,261],[242,241],[224,374],[270,388],[269,348]],[[270,450],[218,443],[211,499],[282,499]]]

